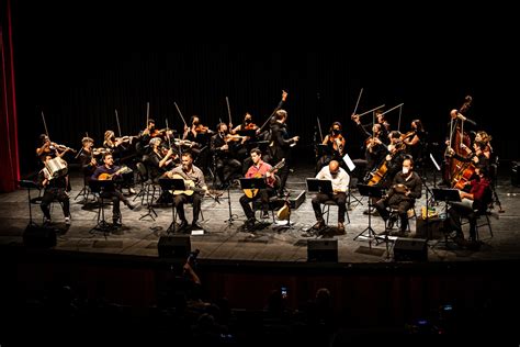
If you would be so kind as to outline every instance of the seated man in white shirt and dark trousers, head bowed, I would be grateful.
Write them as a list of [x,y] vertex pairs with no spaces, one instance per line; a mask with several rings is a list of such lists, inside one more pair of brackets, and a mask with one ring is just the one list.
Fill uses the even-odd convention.
[[317,223],[313,226],[314,230],[320,231],[325,227],[325,220],[321,213],[321,203],[327,200],[334,200],[338,205],[338,231],[344,234],[344,213],[347,212],[347,191],[349,189],[350,176],[339,166],[338,160],[331,160],[328,166],[325,166],[316,175],[317,179],[326,179],[332,182],[332,193],[318,192],[313,198],[313,210],[316,215]]

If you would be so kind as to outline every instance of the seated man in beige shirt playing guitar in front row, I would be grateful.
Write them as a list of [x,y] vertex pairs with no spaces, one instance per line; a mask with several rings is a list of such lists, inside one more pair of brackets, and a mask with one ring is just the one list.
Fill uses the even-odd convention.
[[[166,172],[166,176],[168,178],[176,178],[176,176],[180,176],[184,180],[192,181],[195,184],[195,189],[202,189],[203,191],[207,191],[207,187],[204,181],[204,174],[200,168],[193,165],[192,154],[190,152],[184,152],[181,157],[182,165]],[[177,214],[181,220],[179,231],[183,231],[188,227],[188,221],[184,214],[184,204],[189,202],[193,204],[193,221],[191,223],[192,228],[203,228],[197,222],[199,214],[201,212],[202,197],[197,191],[190,191],[189,193],[177,194],[173,200],[173,203],[176,204],[177,209]]]

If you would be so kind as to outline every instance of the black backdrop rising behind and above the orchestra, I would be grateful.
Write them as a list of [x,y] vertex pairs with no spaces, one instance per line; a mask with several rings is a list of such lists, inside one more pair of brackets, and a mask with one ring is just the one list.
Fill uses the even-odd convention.
[[[143,9],[108,14],[99,7],[14,5],[22,172],[35,168],[42,111],[52,139],[78,148],[86,132],[101,145],[105,130],[116,131],[114,110],[123,135],[137,134],[147,102],[159,127],[168,119],[181,131],[174,101],[186,121],[199,114],[214,127],[219,117],[227,121],[225,97],[235,124],[246,111],[263,123],[282,89],[289,92],[290,130],[302,136],[298,147],[307,159],[317,116],[325,132],[330,122],[342,122],[349,153],[360,155],[361,139],[350,121],[360,88],[359,111],[404,102],[400,130],[419,117],[439,143],[446,136],[449,111],[471,94],[467,116],[494,136],[500,158],[519,157],[516,130],[507,122],[516,115],[510,86],[519,77],[518,56],[505,44],[508,32],[497,36],[467,26],[459,34],[446,27],[419,33],[414,23],[400,23],[369,36],[352,24],[335,22],[315,32],[273,18],[262,20],[270,27],[263,31],[238,19],[214,26],[218,21],[191,22],[182,13],[169,18],[155,10],[158,15],[150,16]],[[226,25],[246,40],[218,35]],[[203,43],[213,38],[233,43]],[[388,114],[394,128],[398,116],[398,110]]]

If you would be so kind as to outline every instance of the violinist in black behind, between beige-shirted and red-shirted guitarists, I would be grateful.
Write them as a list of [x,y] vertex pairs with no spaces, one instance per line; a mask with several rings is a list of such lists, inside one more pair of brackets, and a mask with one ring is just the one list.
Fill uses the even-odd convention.
[[221,181],[221,189],[229,186],[229,179],[238,174],[241,164],[234,158],[234,142],[227,131],[227,124],[219,123],[217,133],[212,136],[211,148],[215,158],[215,170]]

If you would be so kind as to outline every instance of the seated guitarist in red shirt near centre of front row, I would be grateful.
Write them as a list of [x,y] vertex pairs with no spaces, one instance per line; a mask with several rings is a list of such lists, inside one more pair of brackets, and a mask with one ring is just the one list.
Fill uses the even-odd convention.
[[247,222],[246,228],[255,228],[255,213],[251,210],[250,202],[260,198],[262,202],[262,219],[269,217],[269,198],[276,194],[276,177],[272,172],[272,166],[262,160],[262,153],[259,148],[252,148],[250,152],[252,165],[246,172],[246,178],[265,178],[267,188],[259,189],[256,194],[244,194],[240,198],[240,205],[242,206],[244,213],[246,213]]

